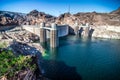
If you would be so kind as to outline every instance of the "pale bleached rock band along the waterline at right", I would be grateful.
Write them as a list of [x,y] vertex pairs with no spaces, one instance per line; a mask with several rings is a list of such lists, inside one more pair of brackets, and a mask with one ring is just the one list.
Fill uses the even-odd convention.
[[92,37],[120,39],[120,26],[92,26]]

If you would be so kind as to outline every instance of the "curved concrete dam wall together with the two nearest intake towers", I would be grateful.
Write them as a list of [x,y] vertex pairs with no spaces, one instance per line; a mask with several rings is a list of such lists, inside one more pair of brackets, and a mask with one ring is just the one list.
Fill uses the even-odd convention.
[[58,47],[59,37],[66,36],[69,33],[67,25],[58,26],[55,23],[48,27],[45,26],[45,23],[40,25],[23,25],[23,29],[38,35],[41,43],[46,42],[47,38],[50,38],[50,47]]

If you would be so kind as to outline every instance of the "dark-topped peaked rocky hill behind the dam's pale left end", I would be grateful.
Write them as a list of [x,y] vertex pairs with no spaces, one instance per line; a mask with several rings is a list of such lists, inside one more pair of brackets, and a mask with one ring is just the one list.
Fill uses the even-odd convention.
[[38,12],[37,10],[33,10],[26,16],[27,20],[24,24],[35,25],[40,24],[41,22],[46,22],[48,24],[55,22],[56,17],[46,14],[44,12]]

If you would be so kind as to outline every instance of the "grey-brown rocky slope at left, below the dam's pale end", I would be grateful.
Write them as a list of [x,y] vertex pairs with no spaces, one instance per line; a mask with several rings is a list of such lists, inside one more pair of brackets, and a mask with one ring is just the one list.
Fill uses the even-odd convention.
[[15,39],[17,41],[22,42],[35,42],[39,40],[39,37],[35,34],[32,34],[26,30],[21,29],[21,27],[16,27],[9,31],[4,31],[0,33],[0,40],[12,40]]

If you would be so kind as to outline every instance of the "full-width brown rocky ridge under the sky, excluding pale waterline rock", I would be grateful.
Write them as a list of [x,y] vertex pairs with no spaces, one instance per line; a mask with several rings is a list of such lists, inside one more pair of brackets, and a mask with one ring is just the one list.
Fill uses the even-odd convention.
[[41,22],[46,22],[48,25],[55,22],[57,24],[68,24],[73,26],[75,22],[78,22],[79,25],[81,23],[88,22],[92,25],[120,26],[120,8],[110,13],[64,13],[59,17],[55,17],[44,12],[39,12],[37,10],[33,10],[28,14],[0,11],[0,26],[22,24],[35,25],[36,23],[40,24]]

